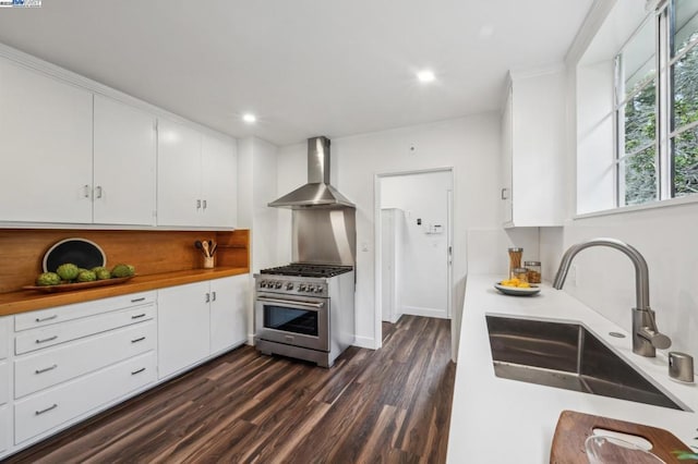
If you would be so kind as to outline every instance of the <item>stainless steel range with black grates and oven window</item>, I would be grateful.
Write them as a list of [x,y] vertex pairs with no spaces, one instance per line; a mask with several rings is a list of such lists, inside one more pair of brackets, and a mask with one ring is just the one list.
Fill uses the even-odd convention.
[[255,279],[255,345],[330,367],[354,340],[352,266],[294,262]]

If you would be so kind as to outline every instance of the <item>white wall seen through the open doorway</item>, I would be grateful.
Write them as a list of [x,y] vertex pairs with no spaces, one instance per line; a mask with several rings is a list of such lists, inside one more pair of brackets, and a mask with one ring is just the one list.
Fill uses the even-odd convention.
[[[400,288],[404,314],[448,318],[448,171],[381,178],[381,208],[405,211]],[[418,219],[421,225],[417,223]],[[441,225],[441,233],[429,233]]]

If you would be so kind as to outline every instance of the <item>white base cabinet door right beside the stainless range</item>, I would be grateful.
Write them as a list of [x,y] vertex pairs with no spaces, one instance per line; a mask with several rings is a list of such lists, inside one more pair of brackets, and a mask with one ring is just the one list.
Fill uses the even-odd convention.
[[210,352],[246,341],[249,274],[210,281]]

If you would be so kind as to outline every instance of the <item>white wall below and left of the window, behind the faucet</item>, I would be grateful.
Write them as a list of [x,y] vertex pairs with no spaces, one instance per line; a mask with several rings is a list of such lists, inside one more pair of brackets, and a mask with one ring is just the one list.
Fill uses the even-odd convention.
[[[599,2],[598,11],[609,11],[613,1]],[[568,57],[568,70],[575,70],[583,44],[601,21],[591,14]],[[579,45],[581,44],[581,46]],[[698,204],[626,210],[605,216],[576,218],[575,182],[577,147],[575,78],[569,76],[568,167],[565,196],[567,217],[562,230],[551,230],[541,239],[541,252],[549,260],[559,262],[563,251],[579,241],[597,236],[619,239],[635,246],[646,258],[650,271],[650,304],[657,310],[657,322],[673,340],[671,350],[698,357]],[[544,239],[544,240],[543,240]],[[635,278],[630,260],[606,248],[589,248],[575,258],[576,279],[571,276],[565,291],[603,316],[630,330],[630,308],[635,306]],[[576,280],[576,282],[575,282]],[[660,361],[658,361],[660,362]]]

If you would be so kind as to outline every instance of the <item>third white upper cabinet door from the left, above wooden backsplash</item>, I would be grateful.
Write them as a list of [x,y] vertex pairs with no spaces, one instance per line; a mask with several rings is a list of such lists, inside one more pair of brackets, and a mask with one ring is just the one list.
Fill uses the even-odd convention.
[[158,120],[157,224],[198,225],[202,215],[201,134]]

